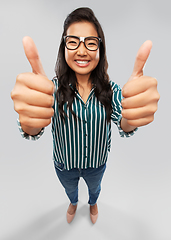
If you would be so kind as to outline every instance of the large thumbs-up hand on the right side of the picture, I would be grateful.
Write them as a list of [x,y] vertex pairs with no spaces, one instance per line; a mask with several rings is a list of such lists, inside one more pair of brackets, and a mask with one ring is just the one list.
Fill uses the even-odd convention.
[[122,116],[127,123],[140,127],[154,120],[160,95],[157,80],[143,75],[143,67],[152,48],[152,42],[146,41],[140,47],[131,77],[122,88]]

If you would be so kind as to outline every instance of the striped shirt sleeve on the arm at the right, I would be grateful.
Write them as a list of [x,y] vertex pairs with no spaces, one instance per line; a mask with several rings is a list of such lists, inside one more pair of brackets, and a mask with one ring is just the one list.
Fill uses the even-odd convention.
[[120,122],[122,119],[122,104],[121,104],[121,100],[122,100],[122,91],[119,85],[117,85],[114,82],[111,82],[111,87],[113,90],[113,95],[112,95],[112,114],[111,114],[111,119],[112,121],[117,125],[118,130],[119,130],[119,134],[121,137],[130,137],[132,135],[134,135],[134,133],[138,130],[138,128],[134,129],[131,132],[124,132],[121,128]]

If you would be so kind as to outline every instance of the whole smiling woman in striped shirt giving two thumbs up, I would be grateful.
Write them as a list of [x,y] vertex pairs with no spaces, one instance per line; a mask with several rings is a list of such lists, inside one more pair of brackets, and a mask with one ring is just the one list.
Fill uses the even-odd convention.
[[137,127],[152,122],[157,110],[157,81],[144,77],[142,71],[151,42],[140,48],[122,92],[109,81],[103,30],[89,8],[67,16],[52,81],[46,77],[32,39],[25,37],[23,45],[33,73],[18,75],[11,93],[20,131],[27,139],[38,139],[52,118],[54,165],[70,200],[67,221],[75,216],[78,182],[83,177],[89,190],[90,218],[95,223],[110,150],[111,120],[121,136],[129,137]]

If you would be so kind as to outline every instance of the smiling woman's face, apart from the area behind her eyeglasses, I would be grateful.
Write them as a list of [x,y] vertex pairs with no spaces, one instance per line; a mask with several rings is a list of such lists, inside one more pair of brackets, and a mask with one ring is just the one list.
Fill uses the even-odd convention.
[[[78,37],[94,36],[98,37],[94,25],[90,22],[76,22],[70,25],[66,35]],[[69,67],[75,72],[77,80],[88,80],[91,72],[96,68],[99,62],[99,48],[96,51],[90,51],[81,42],[75,50],[68,50],[65,47],[65,60]]]

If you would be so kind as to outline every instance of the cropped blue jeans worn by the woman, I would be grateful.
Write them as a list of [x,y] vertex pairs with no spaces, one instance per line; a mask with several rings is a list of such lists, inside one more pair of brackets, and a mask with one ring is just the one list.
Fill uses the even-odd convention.
[[[96,204],[101,191],[101,181],[106,169],[106,163],[99,168],[63,170],[63,164],[56,165],[55,170],[59,181],[65,188],[65,192],[73,205],[78,202],[78,182],[80,177],[84,179],[87,184],[89,192],[88,203],[93,206]],[[62,170],[61,170],[62,169]]]

